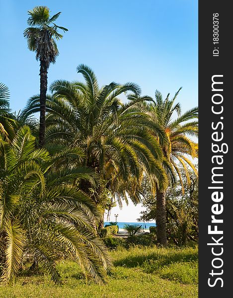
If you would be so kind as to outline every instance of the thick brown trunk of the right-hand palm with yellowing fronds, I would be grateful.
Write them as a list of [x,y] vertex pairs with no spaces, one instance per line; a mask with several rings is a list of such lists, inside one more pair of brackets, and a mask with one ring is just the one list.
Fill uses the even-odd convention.
[[156,187],[156,230],[158,243],[166,246],[166,197],[165,191],[160,191],[158,187]]

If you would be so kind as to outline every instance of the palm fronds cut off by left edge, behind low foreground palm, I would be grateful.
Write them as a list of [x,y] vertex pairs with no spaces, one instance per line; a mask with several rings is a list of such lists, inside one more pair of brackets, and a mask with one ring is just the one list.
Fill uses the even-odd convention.
[[9,142],[14,137],[14,120],[9,109],[9,89],[0,82],[0,139]]

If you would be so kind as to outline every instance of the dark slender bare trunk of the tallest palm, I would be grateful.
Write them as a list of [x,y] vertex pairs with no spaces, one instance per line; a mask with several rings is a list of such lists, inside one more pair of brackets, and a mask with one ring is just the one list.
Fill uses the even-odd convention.
[[45,61],[40,61],[40,129],[39,146],[45,146],[45,112],[46,112],[46,93],[48,88],[48,68]]

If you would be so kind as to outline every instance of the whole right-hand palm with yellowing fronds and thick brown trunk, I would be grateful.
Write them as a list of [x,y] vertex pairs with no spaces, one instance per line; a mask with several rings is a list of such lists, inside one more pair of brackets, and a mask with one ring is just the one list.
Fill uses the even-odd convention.
[[[191,167],[197,175],[197,170],[190,157],[198,157],[198,144],[191,140],[190,137],[198,136],[198,121],[195,120],[198,118],[198,108],[192,108],[181,114],[180,104],[175,104],[175,99],[180,89],[171,100],[169,100],[169,94],[163,100],[162,94],[156,90],[155,101],[152,100],[149,104],[146,105],[144,103],[141,106],[146,106],[153,121],[158,124],[167,137],[168,142],[161,143],[156,136],[162,147],[164,155],[162,166],[166,171],[170,185],[176,182],[177,176],[183,189],[182,176],[177,163],[184,169],[188,184],[190,183],[188,167]],[[155,181],[155,188],[157,241],[162,245],[166,245],[165,188],[161,188],[157,181]]]

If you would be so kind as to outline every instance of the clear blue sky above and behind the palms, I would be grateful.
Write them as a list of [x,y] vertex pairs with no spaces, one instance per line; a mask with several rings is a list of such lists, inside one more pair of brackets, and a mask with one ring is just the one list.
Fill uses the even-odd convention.
[[[58,42],[49,84],[81,79],[76,67],[83,63],[100,85],[133,81],[151,96],[155,89],[173,95],[182,86],[182,110],[198,104],[197,0],[0,0],[0,81],[10,89],[13,111],[39,92],[39,62],[23,37],[27,10],[36,5],[48,6],[52,15],[61,11],[57,24],[69,29]],[[130,215],[135,222],[140,210],[130,204],[118,220]]]

